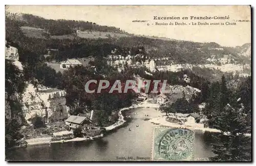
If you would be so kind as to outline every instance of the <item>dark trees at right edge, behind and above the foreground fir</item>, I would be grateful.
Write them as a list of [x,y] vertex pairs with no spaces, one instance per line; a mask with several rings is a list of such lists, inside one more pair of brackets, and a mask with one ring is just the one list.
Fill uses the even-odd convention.
[[[247,77],[241,83],[238,89],[228,89],[226,79],[223,76],[221,83],[215,82],[209,86],[208,96],[206,98],[206,107],[203,113],[209,119],[209,126],[218,126],[219,115],[216,112],[225,112],[226,105],[229,104],[232,108],[240,108],[243,105],[244,113],[248,115],[248,126],[250,126],[250,111],[251,111],[251,78]],[[246,94],[245,94],[246,93]]]

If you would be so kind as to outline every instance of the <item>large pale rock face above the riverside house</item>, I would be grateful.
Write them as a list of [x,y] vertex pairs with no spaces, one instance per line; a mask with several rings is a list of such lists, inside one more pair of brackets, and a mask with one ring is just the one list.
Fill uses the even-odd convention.
[[23,94],[25,119],[30,123],[31,118],[39,115],[46,122],[62,121],[69,116],[66,106],[66,91],[59,89],[38,89],[28,84]]

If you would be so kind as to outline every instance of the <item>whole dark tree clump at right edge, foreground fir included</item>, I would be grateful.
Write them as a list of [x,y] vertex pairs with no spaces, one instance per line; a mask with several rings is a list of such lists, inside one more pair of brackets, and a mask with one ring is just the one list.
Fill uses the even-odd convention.
[[[248,161],[251,159],[251,78],[248,77],[239,89],[229,90],[225,77],[221,83],[210,86],[207,104],[203,114],[210,127],[219,129],[214,144],[214,161]],[[246,97],[243,96],[246,91]],[[244,99],[246,98],[246,99]],[[246,106],[245,106],[246,105]]]

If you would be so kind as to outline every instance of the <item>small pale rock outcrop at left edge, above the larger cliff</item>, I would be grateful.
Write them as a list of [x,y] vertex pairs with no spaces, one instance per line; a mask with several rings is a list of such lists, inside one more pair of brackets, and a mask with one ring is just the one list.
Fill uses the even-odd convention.
[[18,61],[18,49],[14,48],[13,46],[6,46],[5,48],[5,59],[9,59],[13,61],[13,64],[17,66],[20,70],[23,70],[22,63]]

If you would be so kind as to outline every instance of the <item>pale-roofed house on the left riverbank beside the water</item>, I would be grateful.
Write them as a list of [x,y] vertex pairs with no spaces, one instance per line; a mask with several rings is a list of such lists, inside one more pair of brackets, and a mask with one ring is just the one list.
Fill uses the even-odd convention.
[[83,127],[90,126],[92,124],[92,121],[90,120],[90,118],[86,116],[71,115],[67,118],[67,120],[65,121],[65,124],[69,126],[69,129],[75,129],[78,127],[83,128]]

